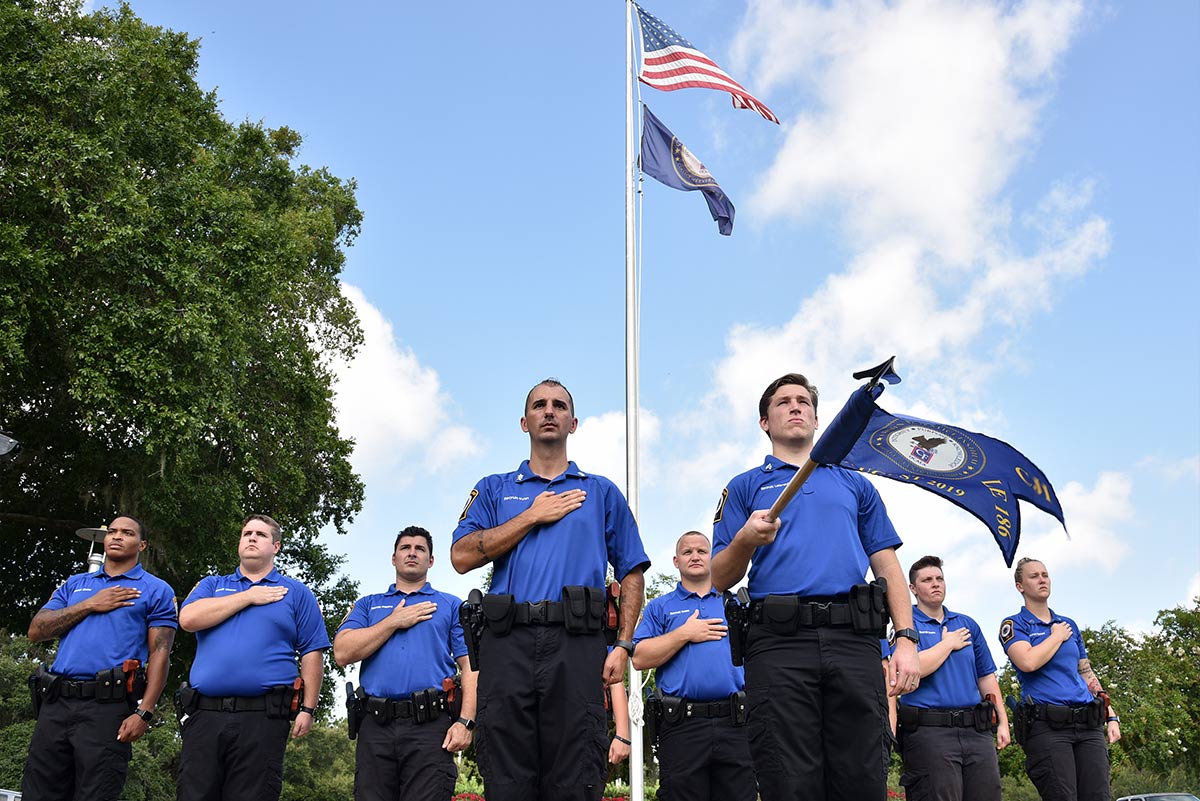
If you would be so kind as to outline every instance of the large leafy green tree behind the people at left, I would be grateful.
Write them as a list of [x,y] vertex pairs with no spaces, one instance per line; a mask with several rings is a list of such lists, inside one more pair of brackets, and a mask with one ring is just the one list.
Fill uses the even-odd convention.
[[[332,632],[356,588],[318,541],[361,507],[331,356],[361,331],[338,275],[354,182],[298,165],[288,128],[232,125],[199,43],[127,6],[0,4],[0,626],[80,570],[73,529],[142,518],[182,597],[236,564],[244,513]],[[173,681],[194,649],[176,640]]]

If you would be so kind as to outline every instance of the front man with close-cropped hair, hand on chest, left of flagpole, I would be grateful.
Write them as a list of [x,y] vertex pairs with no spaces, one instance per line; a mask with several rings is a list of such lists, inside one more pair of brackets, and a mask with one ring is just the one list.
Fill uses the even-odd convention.
[[[475,741],[488,801],[598,801],[604,791],[604,685],[625,675],[650,560],[616,484],[566,458],[577,426],[566,387],[534,386],[521,417],[529,459],[481,478],[454,532],[460,573],[494,561]],[[611,652],[608,565],[620,582]]]

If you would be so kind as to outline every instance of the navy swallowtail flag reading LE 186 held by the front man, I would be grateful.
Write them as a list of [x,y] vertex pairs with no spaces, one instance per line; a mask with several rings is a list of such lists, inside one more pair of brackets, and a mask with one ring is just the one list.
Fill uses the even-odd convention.
[[1021,540],[1018,499],[1052,514],[1066,528],[1050,481],[1012,445],[877,406],[875,399],[883,392],[878,381],[900,380],[890,360],[880,368],[870,384],[850,396],[814,446],[814,462],[902,481],[958,504],[991,530],[1009,567]]

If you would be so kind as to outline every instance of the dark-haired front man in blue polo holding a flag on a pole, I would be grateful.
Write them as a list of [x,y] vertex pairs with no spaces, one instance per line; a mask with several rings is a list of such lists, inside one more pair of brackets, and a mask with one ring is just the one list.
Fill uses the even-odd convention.
[[[887,697],[919,683],[901,544],[878,493],[839,466],[811,471],[782,517],[769,507],[809,463],[817,392],[797,373],[768,385],[758,424],[772,453],[736,476],[713,528],[713,584],[749,567],[745,640],[751,751],[763,801],[881,799],[887,789]],[[864,584],[870,566],[880,583]],[[896,646],[880,674],[887,615]]]

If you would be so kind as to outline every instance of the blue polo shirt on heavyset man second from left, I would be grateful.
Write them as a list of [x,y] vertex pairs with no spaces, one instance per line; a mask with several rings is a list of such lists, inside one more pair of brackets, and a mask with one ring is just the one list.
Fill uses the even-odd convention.
[[205,695],[263,695],[271,687],[290,685],[299,675],[296,657],[329,648],[329,634],[312,590],[271,568],[258,582],[241,574],[208,576],[184,606],[200,598],[245,592],[257,584],[282,584],[282,601],[248,606],[211,628],[196,632],[196,661],[188,677]]

